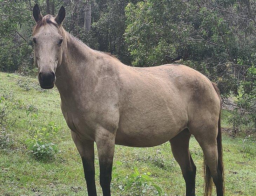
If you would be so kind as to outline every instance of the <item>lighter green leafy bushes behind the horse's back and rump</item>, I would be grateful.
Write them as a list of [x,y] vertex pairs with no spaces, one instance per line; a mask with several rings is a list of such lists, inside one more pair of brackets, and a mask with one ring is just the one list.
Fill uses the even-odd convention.
[[[126,7],[135,66],[182,59],[218,83],[234,130],[256,122],[256,1],[147,0]],[[230,100],[230,97],[235,98]]]

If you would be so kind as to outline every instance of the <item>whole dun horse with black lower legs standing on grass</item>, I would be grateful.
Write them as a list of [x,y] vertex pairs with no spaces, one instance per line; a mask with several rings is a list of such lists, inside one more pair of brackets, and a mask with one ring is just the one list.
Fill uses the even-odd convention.
[[94,142],[103,196],[110,196],[115,144],[151,147],[168,140],[186,182],[186,195],[195,195],[196,166],[188,149],[193,134],[205,157],[205,195],[211,195],[213,179],[217,196],[223,196],[216,85],[184,65],[124,65],[67,33],[61,26],[65,14],[61,7],[55,18],[42,17],[34,6],[34,59],[41,87],[55,84],[59,90],[63,116],[82,158],[88,195],[96,196]]

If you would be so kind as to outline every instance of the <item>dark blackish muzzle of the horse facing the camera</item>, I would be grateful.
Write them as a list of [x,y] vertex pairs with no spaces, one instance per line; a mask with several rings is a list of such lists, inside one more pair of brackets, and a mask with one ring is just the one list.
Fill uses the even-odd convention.
[[42,89],[52,89],[55,83],[55,73],[39,72],[38,80]]

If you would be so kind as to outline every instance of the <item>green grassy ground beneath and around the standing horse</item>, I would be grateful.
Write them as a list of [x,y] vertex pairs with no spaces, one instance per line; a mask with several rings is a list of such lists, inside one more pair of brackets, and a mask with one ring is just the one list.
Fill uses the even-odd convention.
[[[70,130],[60,110],[60,97],[56,88],[41,91],[36,79],[15,74],[0,73],[0,97],[11,103],[8,118],[15,120],[14,125],[6,127],[10,141],[0,149],[0,195],[22,196],[85,196],[86,183],[80,156],[72,141]],[[27,108],[36,109],[37,118],[31,120],[26,115]],[[10,123],[11,123],[10,121]],[[40,127],[53,121],[61,128],[51,137],[58,145],[60,153],[51,160],[37,160],[24,143],[29,138],[28,126]],[[228,126],[225,119],[224,126]],[[1,127],[0,127],[1,128]],[[0,135],[0,139],[1,139]],[[256,162],[252,154],[255,146],[245,152],[244,136],[223,135],[226,196],[256,195]],[[0,140],[1,141],[1,140]],[[1,147],[1,146],[0,146]],[[96,149],[95,149],[96,150]],[[203,154],[200,146],[192,137],[190,151],[197,166],[196,195],[203,195]],[[121,165],[121,163],[122,165]],[[181,170],[174,160],[170,144],[152,148],[130,148],[116,145],[114,156],[112,195],[135,196],[136,189],[120,190],[118,176],[126,176],[137,167],[140,173],[148,173],[152,183],[159,185],[169,196],[183,196],[185,183]],[[96,187],[102,195],[99,184],[99,160],[95,151]],[[143,195],[143,193],[140,193]],[[144,196],[153,195],[144,193]],[[215,195],[215,193],[213,194]]]

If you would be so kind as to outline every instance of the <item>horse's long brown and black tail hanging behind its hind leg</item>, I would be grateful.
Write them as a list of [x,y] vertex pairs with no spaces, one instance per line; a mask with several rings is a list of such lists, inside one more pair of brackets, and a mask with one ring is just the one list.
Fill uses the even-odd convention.
[[[218,87],[215,83],[212,83],[213,87],[218,94],[218,97],[221,100],[220,97],[220,91],[218,90]],[[221,139],[221,105],[220,105],[220,114],[219,114],[219,120],[218,120],[218,135],[217,135],[217,148],[218,148],[218,170],[220,172],[220,182],[221,182],[221,188],[222,193],[224,195],[224,166],[223,166],[223,159],[222,159],[222,139]],[[213,188],[213,181],[210,174],[210,169],[207,166],[206,159],[204,158],[204,196],[210,196]]]

